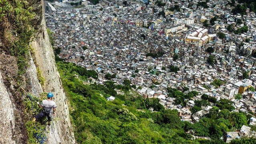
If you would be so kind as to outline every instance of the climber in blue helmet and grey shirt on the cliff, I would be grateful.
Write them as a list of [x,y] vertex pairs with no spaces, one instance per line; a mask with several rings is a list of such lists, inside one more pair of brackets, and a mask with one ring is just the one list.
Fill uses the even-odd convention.
[[[44,109],[42,112],[40,112],[39,114],[34,116],[34,119],[33,119],[34,122],[36,120],[38,120],[39,118],[42,118],[43,116],[47,116],[48,125],[50,125],[50,121],[51,121],[50,115],[51,114],[55,115],[55,110],[57,107],[56,103],[54,101],[52,101],[52,98],[53,98],[53,94],[51,92],[49,92],[47,94],[47,99],[43,100],[41,104],[39,102],[36,102],[40,108],[44,108]],[[52,112],[52,110],[53,110],[53,112]]]

